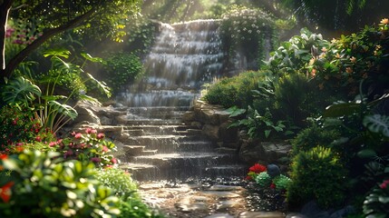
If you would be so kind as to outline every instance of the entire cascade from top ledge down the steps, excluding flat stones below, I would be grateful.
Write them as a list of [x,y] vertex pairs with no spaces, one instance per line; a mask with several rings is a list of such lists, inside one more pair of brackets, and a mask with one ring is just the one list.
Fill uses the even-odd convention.
[[181,122],[201,84],[222,68],[218,28],[218,20],[160,25],[144,60],[147,78],[120,95],[118,102],[128,107],[122,167],[136,180],[243,175],[235,154],[219,154],[201,130]]

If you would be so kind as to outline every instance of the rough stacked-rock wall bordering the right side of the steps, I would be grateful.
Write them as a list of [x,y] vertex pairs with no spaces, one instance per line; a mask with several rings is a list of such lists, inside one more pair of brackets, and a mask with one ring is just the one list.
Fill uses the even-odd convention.
[[284,141],[261,142],[249,139],[238,127],[229,127],[233,119],[229,118],[226,109],[203,101],[196,101],[193,110],[183,116],[185,124],[197,126],[202,133],[218,145],[220,152],[238,154],[245,163],[277,163],[287,161],[291,145]]

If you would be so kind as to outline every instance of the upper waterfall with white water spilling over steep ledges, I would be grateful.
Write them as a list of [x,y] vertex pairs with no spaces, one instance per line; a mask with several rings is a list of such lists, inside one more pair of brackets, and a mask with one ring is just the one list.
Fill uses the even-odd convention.
[[223,53],[219,20],[161,24],[144,60],[146,77],[119,94],[127,106],[189,106],[201,84],[219,74]]

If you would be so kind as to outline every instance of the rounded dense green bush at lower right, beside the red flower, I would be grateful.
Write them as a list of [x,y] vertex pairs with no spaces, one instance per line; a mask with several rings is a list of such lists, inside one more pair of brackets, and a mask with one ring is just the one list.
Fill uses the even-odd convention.
[[344,163],[331,148],[316,146],[302,151],[292,163],[293,183],[289,186],[287,201],[292,206],[301,206],[310,200],[323,208],[341,206],[347,189],[346,175]]

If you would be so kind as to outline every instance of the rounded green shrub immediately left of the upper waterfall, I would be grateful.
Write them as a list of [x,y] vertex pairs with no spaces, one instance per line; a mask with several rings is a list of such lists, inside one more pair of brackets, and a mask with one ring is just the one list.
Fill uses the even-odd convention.
[[105,71],[107,83],[113,92],[120,91],[121,87],[129,84],[143,74],[141,59],[136,54],[115,53],[106,59]]

